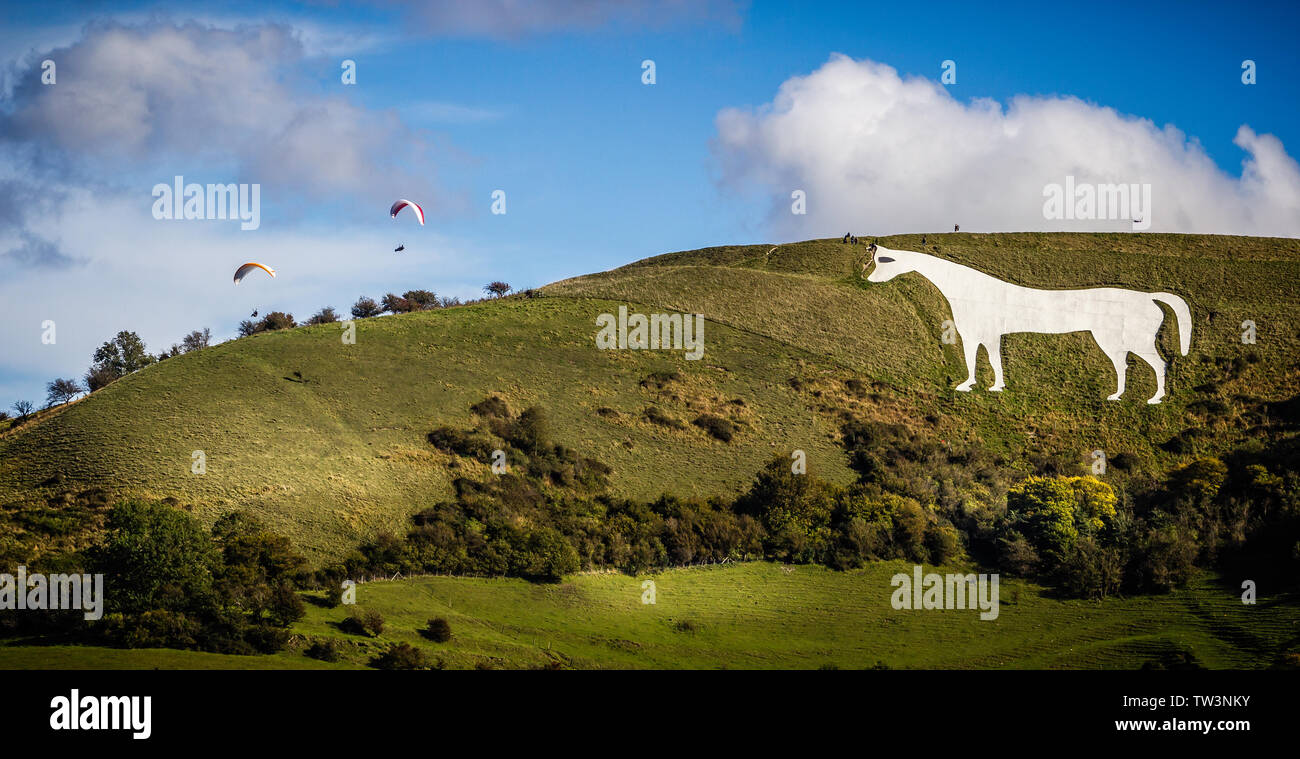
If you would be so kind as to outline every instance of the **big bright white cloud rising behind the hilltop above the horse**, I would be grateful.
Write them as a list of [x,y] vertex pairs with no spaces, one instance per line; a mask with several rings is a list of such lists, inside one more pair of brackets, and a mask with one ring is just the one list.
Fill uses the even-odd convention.
[[[836,55],[768,104],[722,110],[716,127],[723,186],[774,195],[768,221],[790,237],[1131,229],[1044,218],[1044,188],[1066,177],[1150,185],[1150,231],[1300,237],[1300,166],[1245,125],[1232,177],[1174,126],[1076,97],[961,103],[937,82]],[[794,190],[806,216],[790,212]]]

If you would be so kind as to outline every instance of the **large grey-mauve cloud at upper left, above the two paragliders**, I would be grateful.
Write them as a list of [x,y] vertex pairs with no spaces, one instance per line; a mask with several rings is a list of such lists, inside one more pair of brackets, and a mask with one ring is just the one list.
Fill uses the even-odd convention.
[[402,187],[433,196],[429,135],[391,110],[315,91],[295,77],[304,56],[299,34],[274,23],[96,22],[48,53],[57,84],[29,69],[0,138],[105,174],[143,160],[209,161],[286,195],[385,198]]

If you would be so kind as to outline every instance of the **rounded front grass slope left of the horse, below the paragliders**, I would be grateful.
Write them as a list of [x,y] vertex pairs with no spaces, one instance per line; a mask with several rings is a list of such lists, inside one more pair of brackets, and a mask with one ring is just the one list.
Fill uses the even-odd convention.
[[[597,351],[595,316],[616,309],[508,299],[364,320],[351,346],[326,325],[169,359],[0,441],[0,503],[99,485],[173,496],[208,521],[250,508],[309,555],[338,554],[452,495],[455,472],[425,435],[467,426],[490,394],[515,411],[546,407],[556,439],[614,467],[629,496],[738,491],[793,448],[823,476],[850,478],[833,428],[772,380],[796,370],[797,351],[728,328],[706,331],[699,361]],[[644,386],[654,372],[682,378]],[[644,420],[651,404],[688,424]],[[689,424],[711,408],[744,422],[731,443]],[[202,476],[190,469],[198,450]]]

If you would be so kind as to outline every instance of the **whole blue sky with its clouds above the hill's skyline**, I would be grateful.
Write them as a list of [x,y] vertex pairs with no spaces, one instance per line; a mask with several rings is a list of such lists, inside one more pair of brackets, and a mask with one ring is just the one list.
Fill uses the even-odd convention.
[[[0,405],[79,377],[118,329],[159,351],[204,325],[231,337],[251,308],[303,318],[389,290],[464,298],[490,279],[538,286],[673,250],[942,230],[954,217],[967,230],[1057,229],[1039,188],[1066,173],[1153,183],[1160,231],[1300,234],[1294,3],[556,1],[526,22],[510,5],[6,5],[0,181],[14,181],[10,208],[32,191],[72,200],[6,214],[0,195]],[[202,55],[169,58],[162,32],[191,19]],[[108,44],[105,21],[136,42]],[[263,25],[283,36],[248,42]],[[208,31],[240,27],[233,42]],[[99,65],[135,51],[174,77]],[[242,61],[229,82],[183,91],[186,66],[221,69],[229,51]],[[40,88],[47,56],[69,65]],[[344,58],[356,86],[339,82]],[[944,60],[956,84],[937,83]],[[125,109],[94,99],[118,84],[147,107],[100,127]],[[220,103],[211,116],[166,110],[191,96]],[[311,152],[280,160],[294,140],[270,140],[321,122]],[[261,183],[261,229],[147,218],[150,187],[176,174]],[[806,216],[789,213],[792,188],[807,192]],[[490,213],[494,190],[504,216]],[[398,196],[425,203],[426,227],[387,218]],[[252,256],[277,259],[282,277],[231,295],[222,273]],[[142,289],[162,295],[142,303]],[[56,346],[39,341],[46,317]]]

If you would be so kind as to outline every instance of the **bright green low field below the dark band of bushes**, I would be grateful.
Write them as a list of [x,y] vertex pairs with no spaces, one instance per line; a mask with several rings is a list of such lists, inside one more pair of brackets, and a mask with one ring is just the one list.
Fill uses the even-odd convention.
[[[1008,581],[998,617],[983,621],[978,611],[893,610],[896,572],[911,565],[833,572],[751,563],[644,577],[578,574],[558,585],[378,581],[358,587],[356,606],[384,615],[378,638],[338,629],[348,607],[308,604],[292,650],[273,656],[0,646],[0,668],[355,668],[406,641],[447,668],[1132,669],[1187,651],[1206,668],[1254,669],[1274,664],[1300,637],[1295,598],[1262,591],[1256,606],[1244,606],[1239,590],[1209,574],[1169,595],[1105,602],[1058,600]],[[656,586],[653,606],[641,603],[646,580]],[[451,624],[450,642],[417,633],[434,616]],[[302,655],[317,638],[338,639],[344,659],[324,664]]]

